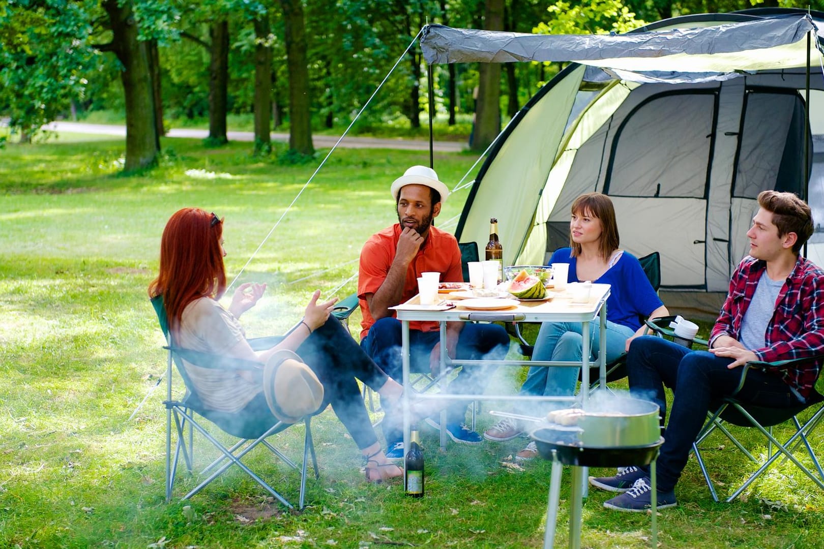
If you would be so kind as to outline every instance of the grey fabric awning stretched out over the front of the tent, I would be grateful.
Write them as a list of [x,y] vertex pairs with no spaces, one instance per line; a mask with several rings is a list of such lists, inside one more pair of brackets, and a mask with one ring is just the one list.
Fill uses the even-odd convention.
[[[625,35],[530,35],[428,25],[420,44],[430,64],[572,61],[634,73],[666,73],[677,67],[677,72],[706,77],[805,67],[811,31],[817,39],[807,15]],[[818,40],[812,40],[816,64],[819,48]]]

